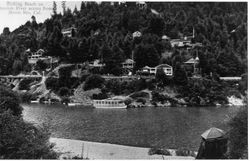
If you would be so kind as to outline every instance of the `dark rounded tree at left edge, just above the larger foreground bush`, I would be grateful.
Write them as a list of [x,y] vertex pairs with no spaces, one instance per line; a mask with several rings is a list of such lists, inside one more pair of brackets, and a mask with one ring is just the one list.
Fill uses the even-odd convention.
[[11,89],[0,86],[0,113],[10,111],[15,116],[21,116],[23,108],[19,98]]

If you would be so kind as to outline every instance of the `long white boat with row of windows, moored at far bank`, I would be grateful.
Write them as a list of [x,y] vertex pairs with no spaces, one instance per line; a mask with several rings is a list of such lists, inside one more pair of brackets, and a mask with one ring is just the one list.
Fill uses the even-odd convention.
[[95,108],[127,108],[123,100],[120,99],[103,99],[93,100]]

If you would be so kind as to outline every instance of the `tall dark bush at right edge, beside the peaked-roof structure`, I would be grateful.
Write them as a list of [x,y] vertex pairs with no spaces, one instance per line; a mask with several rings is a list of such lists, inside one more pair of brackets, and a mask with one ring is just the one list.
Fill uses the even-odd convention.
[[242,107],[238,113],[229,121],[229,151],[230,159],[247,159],[247,106]]

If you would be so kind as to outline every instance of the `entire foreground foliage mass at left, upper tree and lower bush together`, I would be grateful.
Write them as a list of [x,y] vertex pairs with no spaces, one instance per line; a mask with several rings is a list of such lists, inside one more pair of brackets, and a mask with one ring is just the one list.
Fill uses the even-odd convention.
[[18,96],[0,87],[0,99],[0,158],[56,159],[46,128],[23,120]]

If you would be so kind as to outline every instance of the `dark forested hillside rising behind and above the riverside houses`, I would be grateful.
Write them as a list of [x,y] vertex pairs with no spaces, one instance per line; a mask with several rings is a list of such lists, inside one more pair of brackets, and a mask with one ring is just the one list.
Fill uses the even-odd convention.
[[[63,6],[63,13],[57,7]],[[61,30],[75,26],[73,37]],[[172,48],[162,36],[171,39],[192,35],[203,47],[190,53]],[[134,38],[135,31],[142,33]],[[120,74],[119,64],[131,58],[135,70],[145,65],[172,65],[186,61],[198,52],[202,75],[240,76],[247,70],[247,3],[100,3],[82,2],[71,11],[67,2],[54,2],[53,15],[44,23],[32,21],[13,32],[5,28],[0,37],[0,74],[29,71],[25,50],[43,48],[47,55],[63,62],[77,63],[102,59],[104,73]],[[171,51],[170,56],[163,53]]]

